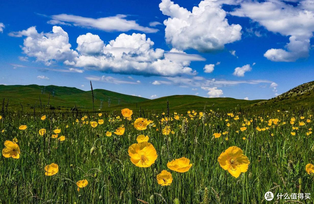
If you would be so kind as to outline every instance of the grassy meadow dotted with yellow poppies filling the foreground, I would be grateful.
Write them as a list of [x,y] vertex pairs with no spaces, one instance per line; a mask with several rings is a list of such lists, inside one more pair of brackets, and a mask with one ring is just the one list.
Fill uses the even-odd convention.
[[313,113],[2,111],[0,203],[266,203],[267,191],[312,193]]

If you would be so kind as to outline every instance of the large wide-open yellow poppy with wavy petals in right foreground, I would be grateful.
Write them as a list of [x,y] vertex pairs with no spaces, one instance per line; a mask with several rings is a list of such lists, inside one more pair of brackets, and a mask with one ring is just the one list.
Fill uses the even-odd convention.
[[246,172],[250,164],[249,159],[243,154],[243,151],[236,147],[230,147],[221,153],[218,157],[221,168],[238,178],[241,172]]

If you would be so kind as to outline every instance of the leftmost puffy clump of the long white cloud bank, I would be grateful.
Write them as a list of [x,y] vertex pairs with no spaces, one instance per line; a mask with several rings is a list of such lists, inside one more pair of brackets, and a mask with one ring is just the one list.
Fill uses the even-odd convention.
[[76,51],[70,49],[68,33],[59,26],[53,26],[52,33],[38,33],[36,27],[30,27],[9,35],[26,36],[22,47],[23,52],[27,56],[35,57],[36,61],[44,62],[47,66],[54,61],[73,60],[78,56]]

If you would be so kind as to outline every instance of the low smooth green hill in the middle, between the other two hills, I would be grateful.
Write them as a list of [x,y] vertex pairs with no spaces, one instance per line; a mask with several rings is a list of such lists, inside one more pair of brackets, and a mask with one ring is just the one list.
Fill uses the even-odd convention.
[[[186,110],[198,110],[202,111],[206,105],[207,109],[234,109],[244,108],[251,104],[260,102],[261,100],[240,100],[233,98],[203,98],[193,95],[174,95],[166,96],[159,99],[153,99],[149,101],[143,101],[140,103],[126,104],[121,107],[127,107],[132,110],[167,110],[167,100],[169,101],[169,109],[171,111],[186,111]],[[119,106],[120,107],[120,106]],[[119,107],[111,107],[111,110],[118,109]]]

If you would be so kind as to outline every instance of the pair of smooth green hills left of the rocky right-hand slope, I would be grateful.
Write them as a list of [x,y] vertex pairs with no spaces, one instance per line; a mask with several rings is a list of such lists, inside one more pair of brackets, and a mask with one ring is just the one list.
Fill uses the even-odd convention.
[[[50,98],[49,98],[50,94]],[[76,88],[59,86],[39,86],[39,85],[0,85],[0,99],[4,101],[4,106],[8,102],[8,109],[36,108],[71,110],[75,105],[79,110],[92,110],[93,100],[91,91],[83,91]],[[49,106],[48,105],[49,99]],[[158,99],[145,99],[137,96],[119,94],[103,89],[94,89],[95,110],[111,111],[120,108],[130,108],[133,110],[166,110],[167,100],[172,111],[185,110],[186,107],[195,110],[207,109],[234,109],[245,108],[261,100],[240,100],[233,98],[203,98],[193,95],[174,95]],[[102,101],[102,102],[101,102]],[[3,101],[1,101],[3,102]],[[102,103],[102,106],[100,105]],[[110,104],[110,105],[109,105]]]

